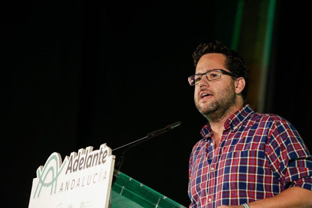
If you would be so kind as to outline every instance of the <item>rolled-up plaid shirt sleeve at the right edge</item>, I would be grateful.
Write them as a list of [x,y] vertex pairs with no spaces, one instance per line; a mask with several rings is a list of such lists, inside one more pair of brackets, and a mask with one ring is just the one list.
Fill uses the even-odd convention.
[[285,189],[298,186],[312,190],[312,156],[288,121],[273,122],[265,151],[274,176]]

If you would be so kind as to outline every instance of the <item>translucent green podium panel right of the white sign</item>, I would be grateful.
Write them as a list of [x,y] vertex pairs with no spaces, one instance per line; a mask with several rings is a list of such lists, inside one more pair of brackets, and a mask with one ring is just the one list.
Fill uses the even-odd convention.
[[111,208],[185,208],[120,171],[114,170],[114,176]]

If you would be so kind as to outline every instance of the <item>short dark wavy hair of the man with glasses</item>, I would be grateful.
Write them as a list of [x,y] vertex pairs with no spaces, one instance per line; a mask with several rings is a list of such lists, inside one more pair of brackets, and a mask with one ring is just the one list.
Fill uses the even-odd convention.
[[[214,41],[211,43],[201,43],[196,48],[195,52],[193,53],[193,62],[195,65],[195,68],[197,66],[197,62],[199,59],[207,54],[207,53],[221,53],[226,57],[225,66],[228,70],[230,70],[231,73],[233,73],[236,78],[243,77],[245,79],[246,85],[241,92],[241,95],[245,101],[247,97],[247,90],[248,90],[248,74],[249,70],[245,66],[244,59],[238,54],[238,52],[235,52],[233,50],[230,50],[226,46],[222,45],[219,41]],[[234,80],[235,77],[232,77]]]

